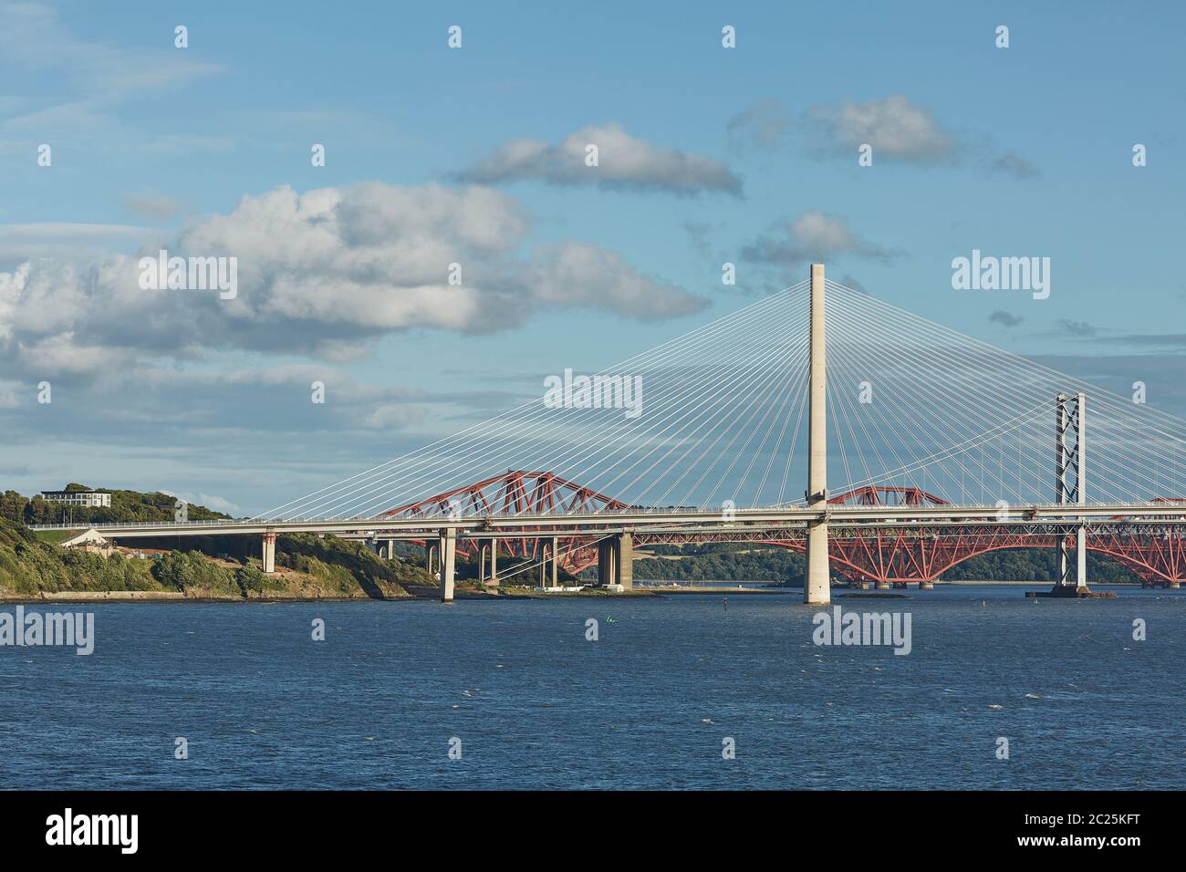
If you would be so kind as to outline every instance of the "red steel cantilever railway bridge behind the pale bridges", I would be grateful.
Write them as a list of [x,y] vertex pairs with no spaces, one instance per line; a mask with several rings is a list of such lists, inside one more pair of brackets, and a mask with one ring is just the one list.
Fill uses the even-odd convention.
[[[1184,499],[1159,499],[1167,509],[1184,505]],[[828,499],[831,505],[950,505],[925,490],[904,486],[867,485]],[[426,499],[383,513],[381,517],[401,520],[483,517],[490,515],[573,515],[581,511],[629,510],[633,507],[599,494],[550,472],[508,471],[474,484],[436,494]],[[1177,515],[1174,516],[1178,517]],[[559,565],[573,574],[598,561],[595,533],[530,536],[530,529],[515,537],[497,539],[500,553],[537,561],[550,556],[555,540]],[[377,534],[382,537],[382,533]],[[931,583],[944,572],[978,554],[1005,548],[1056,548],[1075,533],[1058,524],[1034,521],[1028,524],[991,522],[961,523],[958,518],[899,521],[892,524],[837,526],[829,537],[833,571],[852,581],[878,584]],[[425,540],[412,540],[425,542]],[[753,542],[805,552],[802,529],[786,529],[772,536],[770,530],[747,530],[726,523],[715,529],[639,530],[636,546],[687,545],[704,542]],[[1186,530],[1179,523],[1142,524],[1124,518],[1098,522],[1088,533],[1089,550],[1115,558],[1131,568],[1146,584],[1172,585],[1186,580]],[[458,553],[478,556],[478,540],[458,541]]]

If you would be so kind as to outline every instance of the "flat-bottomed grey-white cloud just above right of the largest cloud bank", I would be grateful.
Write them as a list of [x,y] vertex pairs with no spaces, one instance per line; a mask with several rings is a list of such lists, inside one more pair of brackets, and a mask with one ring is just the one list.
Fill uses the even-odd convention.
[[[598,147],[598,166],[586,165],[586,147]],[[723,191],[741,196],[741,180],[725,164],[700,154],[662,148],[631,136],[619,123],[584,127],[556,145],[515,140],[459,173],[464,182],[495,184],[537,179],[554,185],[599,185],[677,195]]]

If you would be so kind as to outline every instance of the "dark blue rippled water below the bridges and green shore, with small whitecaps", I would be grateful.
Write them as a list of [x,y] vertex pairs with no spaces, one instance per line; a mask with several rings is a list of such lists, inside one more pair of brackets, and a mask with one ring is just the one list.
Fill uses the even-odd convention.
[[0,648],[0,785],[1186,787],[1184,593],[836,603],[910,611],[912,653],[780,596],[56,605],[95,654]]

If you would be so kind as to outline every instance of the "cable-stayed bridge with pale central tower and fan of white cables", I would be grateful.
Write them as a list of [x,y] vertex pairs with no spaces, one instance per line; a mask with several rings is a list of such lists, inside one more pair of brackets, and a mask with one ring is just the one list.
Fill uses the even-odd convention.
[[459,550],[487,581],[502,553],[544,579],[597,564],[630,586],[632,549],[661,542],[803,550],[809,603],[829,600],[833,573],[926,586],[1016,547],[1057,550],[1057,593],[1086,591],[1088,550],[1150,584],[1186,578],[1186,422],[828,281],[822,265],[553,383],[256,518],[97,529],[260,535],[267,571],[283,532],[425,542],[446,599]]

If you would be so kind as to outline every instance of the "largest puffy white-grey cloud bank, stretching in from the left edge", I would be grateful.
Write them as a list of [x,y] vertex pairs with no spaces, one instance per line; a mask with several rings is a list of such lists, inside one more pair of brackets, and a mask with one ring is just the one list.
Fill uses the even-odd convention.
[[[518,201],[484,187],[278,187],[167,246],[172,256],[237,257],[234,299],[144,291],[139,255],[129,254],[0,272],[0,359],[45,375],[215,349],[344,359],[384,332],[492,332],[543,307],[646,320],[706,304],[593,244],[523,255],[530,223]],[[155,255],[155,246],[140,254]],[[460,285],[448,282],[451,263],[461,267]]]

